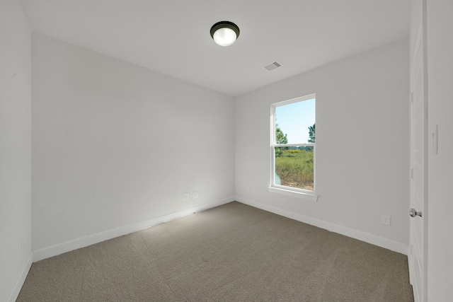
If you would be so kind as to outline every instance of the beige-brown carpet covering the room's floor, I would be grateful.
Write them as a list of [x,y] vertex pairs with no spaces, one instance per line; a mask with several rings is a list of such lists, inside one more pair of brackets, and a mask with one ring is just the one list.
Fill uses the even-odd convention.
[[405,255],[231,202],[32,265],[17,301],[413,301]]

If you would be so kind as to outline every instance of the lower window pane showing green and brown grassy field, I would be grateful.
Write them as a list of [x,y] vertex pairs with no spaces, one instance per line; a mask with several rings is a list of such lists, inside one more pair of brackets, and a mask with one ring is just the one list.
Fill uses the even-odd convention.
[[312,146],[275,147],[275,185],[314,190]]

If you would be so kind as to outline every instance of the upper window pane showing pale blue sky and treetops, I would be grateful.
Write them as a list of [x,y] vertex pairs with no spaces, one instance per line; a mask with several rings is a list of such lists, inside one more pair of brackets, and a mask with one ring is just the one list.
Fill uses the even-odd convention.
[[315,99],[275,108],[275,143],[314,143]]

